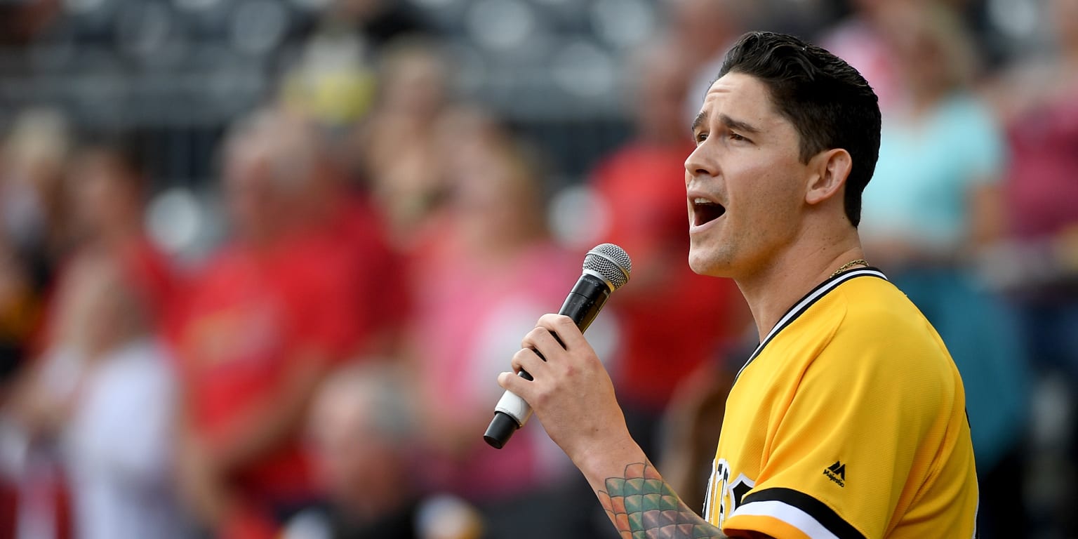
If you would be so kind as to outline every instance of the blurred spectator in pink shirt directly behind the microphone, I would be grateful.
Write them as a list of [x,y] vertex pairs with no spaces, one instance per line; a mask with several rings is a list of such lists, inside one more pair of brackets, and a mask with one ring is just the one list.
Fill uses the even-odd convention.
[[[521,430],[501,451],[475,432],[502,392],[490,376],[520,348],[536,309],[561,306],[582,257],[550,238],[544,172],[531,149],[478,110],[453,111],[430,128],[439,158],[424,168],[443,175],[444,194],[410,258],[417,314],[405,358],[424,411],[426,487],[475,503],[496,537],[571,536],[566,523],[580,512],[548,516],[590,493],[570,486],[576,472],[542,429]],[[605,349],[609,322],[592,331]]]

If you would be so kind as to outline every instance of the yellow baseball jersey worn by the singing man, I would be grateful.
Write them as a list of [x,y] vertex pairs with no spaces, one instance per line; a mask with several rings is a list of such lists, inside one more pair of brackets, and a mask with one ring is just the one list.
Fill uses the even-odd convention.
[[962,378],[876,270],[832,277],[760,343],[727,399],[704,515],[737,537],[976,537]]

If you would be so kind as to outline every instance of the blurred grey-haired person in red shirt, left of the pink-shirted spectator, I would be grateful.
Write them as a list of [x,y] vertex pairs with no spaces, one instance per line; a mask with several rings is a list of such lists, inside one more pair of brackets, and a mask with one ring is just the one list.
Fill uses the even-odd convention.
[[370,285],[355,274],[358,240],[337,240],[358,235],[313,217],[326,209],[321,160],[309,126],[276,114],[226,144],[233,238],[189,294],[177,343],[178,478],[221,537],[272,537],[315,497],[299,436],[306,404],[376,326],[361,316],[377,306],[360,302]]

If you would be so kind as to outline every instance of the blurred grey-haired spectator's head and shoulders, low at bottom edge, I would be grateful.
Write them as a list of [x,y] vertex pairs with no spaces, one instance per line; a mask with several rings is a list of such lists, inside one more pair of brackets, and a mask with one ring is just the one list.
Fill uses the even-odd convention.
[[400,372],[371,362],[332,373],[312,405],[308,440],[324,501],[296,515],[289,539],[478,539],[467,502],[420,495],[416,403]]

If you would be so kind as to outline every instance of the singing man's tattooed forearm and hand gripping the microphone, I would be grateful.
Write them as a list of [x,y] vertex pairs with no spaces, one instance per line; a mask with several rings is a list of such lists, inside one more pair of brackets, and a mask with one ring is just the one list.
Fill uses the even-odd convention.
[[512,365],[533,379],[505,372],[498,384],[531,404],[551,440],[588,479],[621,537],[725,537],[692,512],[648,462],[625,427],[610,376],[571,319],[540,318]]

